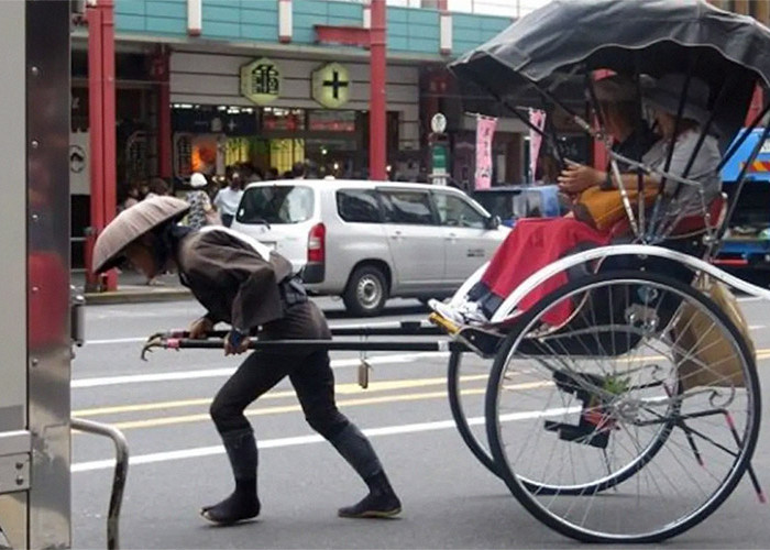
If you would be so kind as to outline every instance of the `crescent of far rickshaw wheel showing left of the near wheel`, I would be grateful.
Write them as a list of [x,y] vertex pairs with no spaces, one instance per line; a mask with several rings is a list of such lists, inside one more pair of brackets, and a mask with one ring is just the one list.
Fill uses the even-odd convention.
[[490,453],[488,447],[485,444],[486,429],[483,417],[481,417],[482,421],[479,421],[477,417],[468,416],[470,410],[477,410],[480,416],[483,414],[483,406],[472,409],[472,402],[475,396],[483,393],[481,388],[486,386],[492,366],[488,362],[484,362],[483,366],[471,363],[471,361],[463,362],[463,353],[459,351],[453,351],[449,356],[447,373],[449,407],[452,410],[452,418],[458,427],[460,437],[473,455],[490,472],[499,476],[495,461]]

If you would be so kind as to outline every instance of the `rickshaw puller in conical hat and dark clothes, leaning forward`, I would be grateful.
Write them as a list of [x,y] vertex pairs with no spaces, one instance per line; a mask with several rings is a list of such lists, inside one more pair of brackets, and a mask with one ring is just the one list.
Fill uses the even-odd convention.
[[[262,243],[224,229],[190,231],[177,226],[187,202],[156,197],[121,212],[99,234],[94,271],[102,273],[131,260],[147,276],[176,268],[207,312],[190,326],[191,338],[205,338],[218,322],[230,324],[224,354],[246,352],[257,340],[329,340],[320,309],[307,298],[292,264]],[[366,437],[342,415],[334,402],[334,375],[326,350],[254,351],[224,383],[211,404],[211,418],[222,438],[234,492],[201,509],[216,524],[229,525],[260,514],[257,448],[243,411],[288,376],[307,422],[326,438],[369,487],[341,517],[391,517],[402,505]],[[318,472],[312,472],[318,474]]]

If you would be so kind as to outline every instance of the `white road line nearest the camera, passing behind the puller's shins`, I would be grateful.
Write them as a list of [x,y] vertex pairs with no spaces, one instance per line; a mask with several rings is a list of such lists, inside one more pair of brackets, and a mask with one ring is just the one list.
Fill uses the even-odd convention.
[[[509,415],[504,415],[501,417],[501,421],[509,422],[516,420],[527,420],[530,418],[541,418],[559,416],[570,413],[579,413],[580,407],[570,408],[554,408],[543,411],[528,411],[528,413],[513,413]],[[471,426],[479,426],[484,424],[484,417],[474,417],[468,419]],[[399,426],[386,426],[383,428],[369,428],[363,430],[363,432],[370,438],[376,438],[381,436],[399,436],[403,433],[418,433],[424,431],[438,431],[448,430],[454,428],[454,420],[439,420],[436,422],[419,422],[419,424],[405,424]],[[299,436],[294,438],[279,438],[279,439],[267,439],[264,441],[258,441],[257,446],[261,450],[263,449],[277,449],[279,447],[297,447],[306,446],[312,443],[320,443],[324,441],[321,436]],[[224,448],[222,446],[212,447],[198,447],[196,449],[184,449],[178,451],[165,451],[156,452],[150,454],[140,454],[136,457],[131,457],[129,460],[130,465],[135,466],[140,464],[155,464],[158,462],[170,462],[175,460],[184,459],[197,459],[201,457],[212,457],[216,454],[224,454]],[[72,472],[94,472],[96,470],[108,470],[116,465],[114,459],[108,460],[94,460],[89,462],[79,462],[72,465]]]

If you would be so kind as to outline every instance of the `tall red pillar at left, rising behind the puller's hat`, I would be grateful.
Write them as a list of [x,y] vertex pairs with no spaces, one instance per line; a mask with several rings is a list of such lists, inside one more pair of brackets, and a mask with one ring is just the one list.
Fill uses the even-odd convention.
[[[98,286],[91,272],[94,244],[116,215],[116,88],[114,11],[112,0],[89,7],[88,18],[88,109],[91,169],[91,232],[86,241],[86,283]],[[114,270],[105,277],[108,290],[118,286]]]

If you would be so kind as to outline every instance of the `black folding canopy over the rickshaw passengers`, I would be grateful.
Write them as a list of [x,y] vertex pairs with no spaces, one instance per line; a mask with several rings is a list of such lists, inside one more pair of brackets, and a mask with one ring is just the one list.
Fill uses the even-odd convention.
[[768,50],[767,28],[704,0],[553,0],[450,68],[461,81],[536,107],[541,100],[532,85],[578,99],[575,72],[690,73],[710,85],[712,105],[718,103],[714,127],[729,140],[744,123],[754,85],[770,85]]

